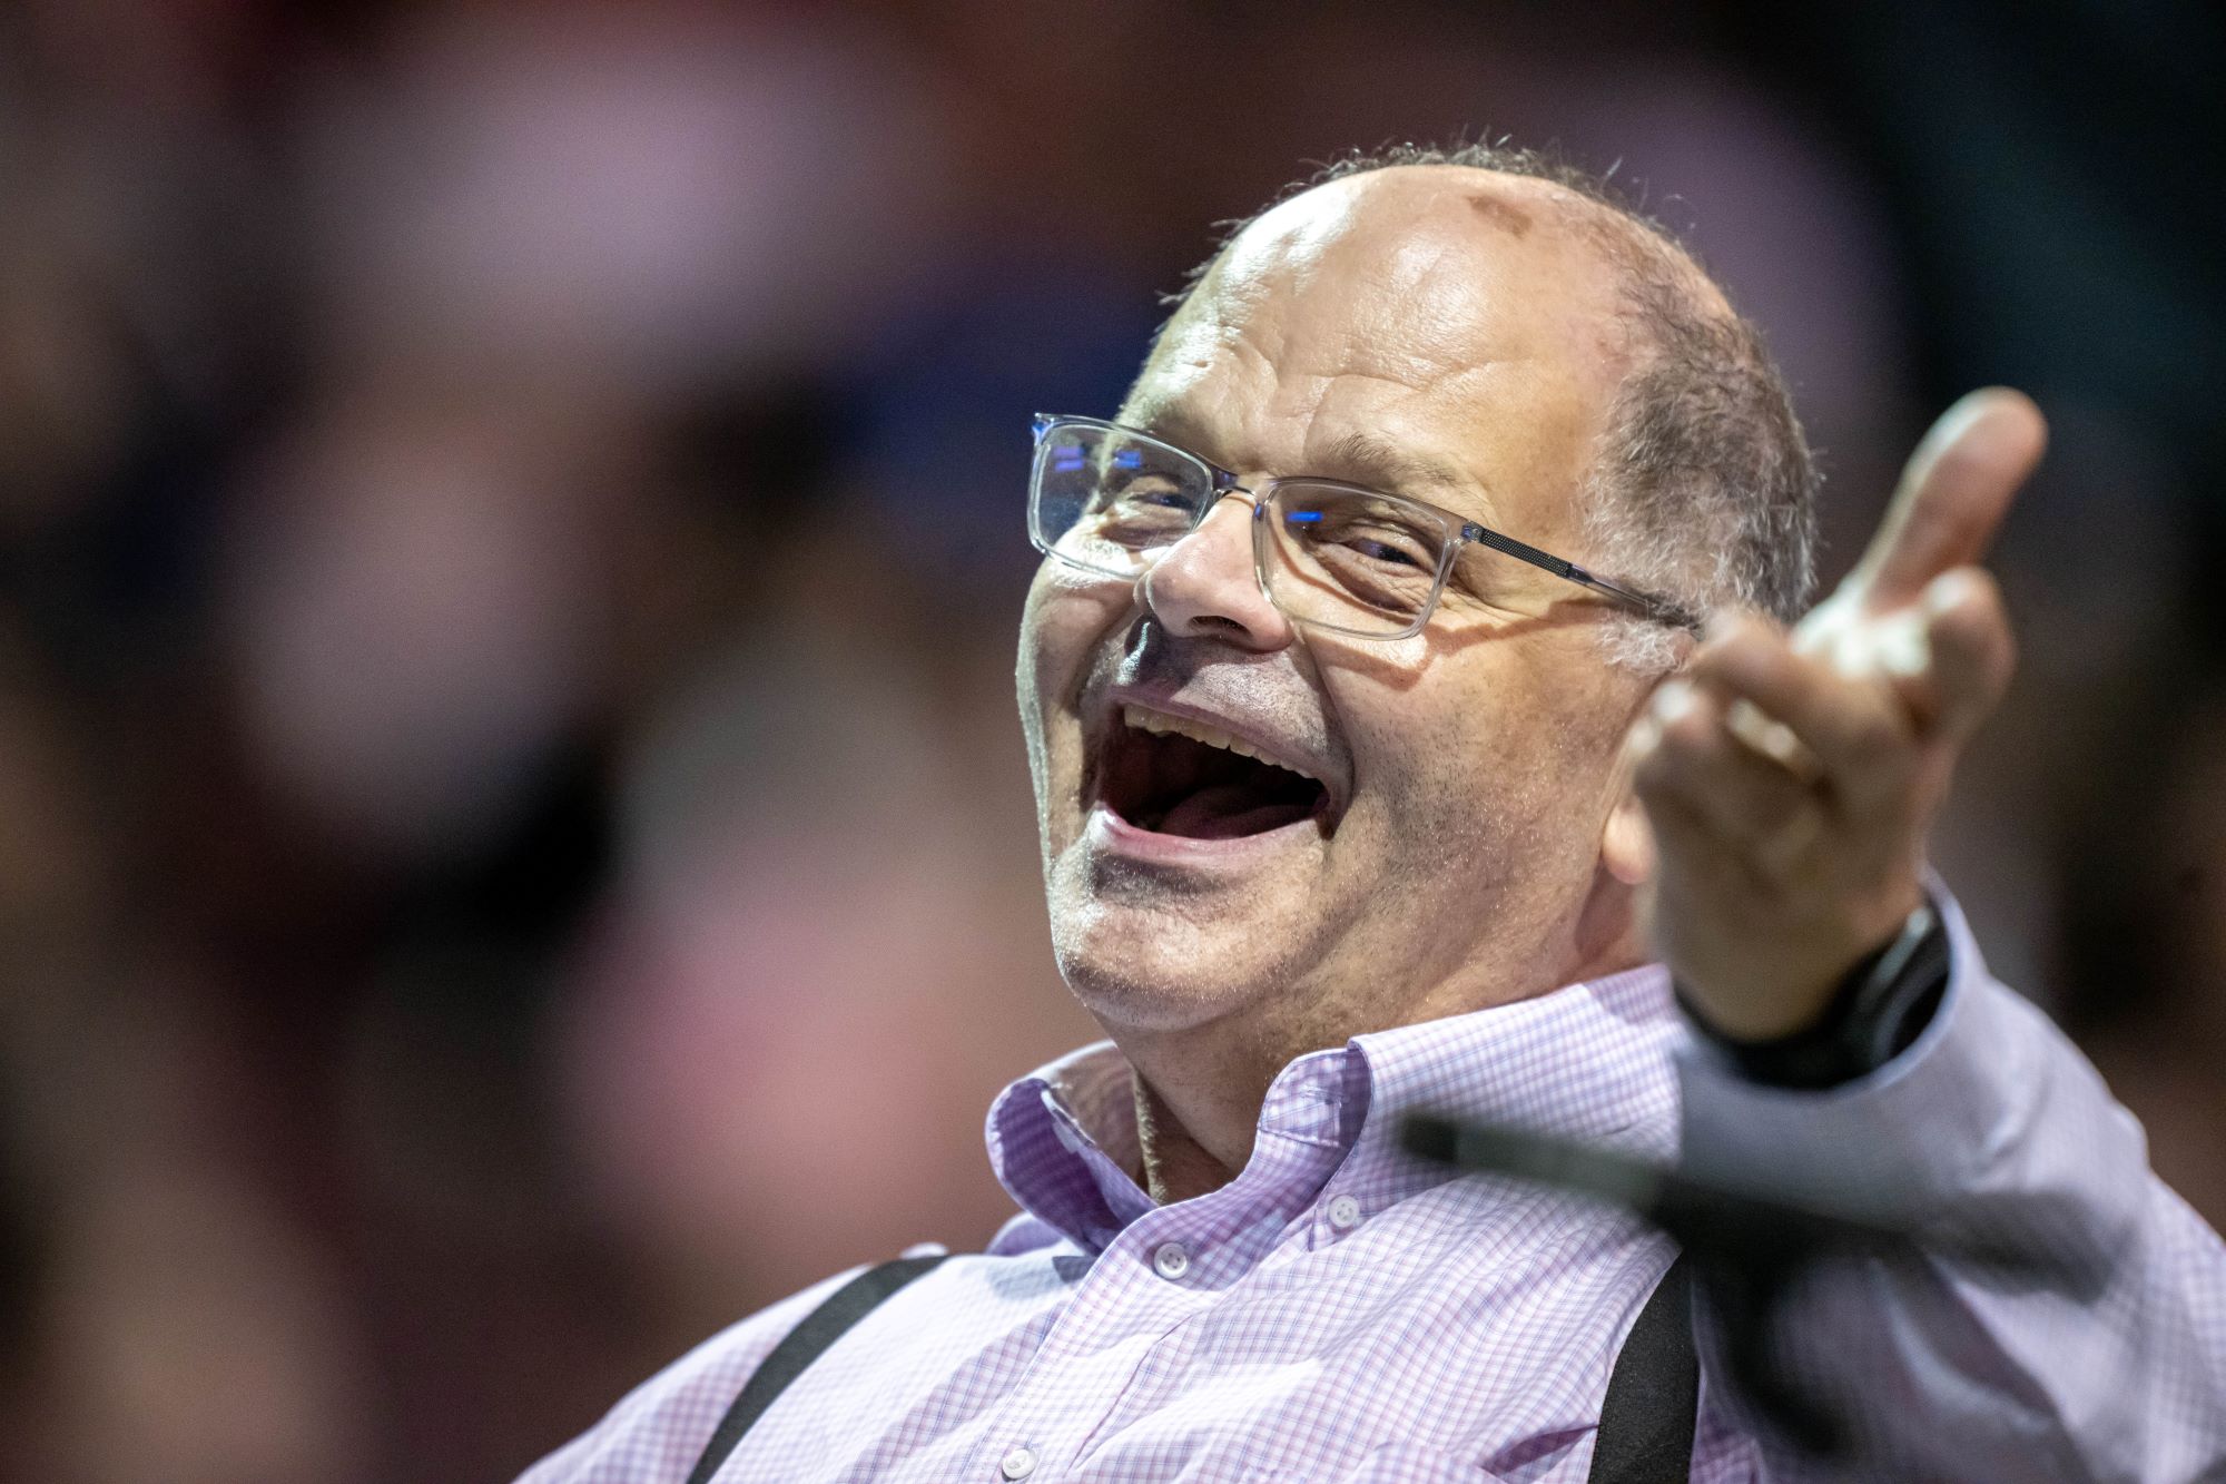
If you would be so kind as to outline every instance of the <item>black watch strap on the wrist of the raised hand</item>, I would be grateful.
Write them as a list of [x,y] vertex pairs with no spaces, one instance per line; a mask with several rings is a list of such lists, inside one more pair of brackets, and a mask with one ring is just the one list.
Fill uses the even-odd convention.
[[1814,1025],[1790,1036],[1734,1041],[1694,1012],[1683,989],[1678,1003],[1701,1038],[1747,1081],[1821,1092],[1910,1049],[1948,992],[1948,925],[1928,900],[1885,947],[1848,972]]

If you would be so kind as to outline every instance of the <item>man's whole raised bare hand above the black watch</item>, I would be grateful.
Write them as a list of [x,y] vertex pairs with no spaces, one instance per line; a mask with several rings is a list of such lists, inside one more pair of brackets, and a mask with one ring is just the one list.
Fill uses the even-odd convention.
[[1792,633],[1718,615],[1632,729],[1654,947],[1718,1032],[1814,1023],[1923,900],[1925,831],[2015,664],[1977,562],[2043,443],[2021,392],[1963,397],[1839,590]]

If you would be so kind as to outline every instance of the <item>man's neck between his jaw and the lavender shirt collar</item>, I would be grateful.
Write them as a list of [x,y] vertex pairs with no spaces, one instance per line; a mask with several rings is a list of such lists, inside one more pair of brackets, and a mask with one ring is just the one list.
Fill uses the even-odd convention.
[[[1247,1009],[1184,1029],[1106,1027],[1135,1067],[1142,1183],[1169,1205],[1220,1190],[1251,1161],[1260,1105],[1275,1074],[1307,1052],[1353,1036],[1416,1025],[1547,994],[1645,960],[1623,891],[1594,891],[1554,951],[1534,969],[1494,965],[1400,996],[1262,994]],[[1296,1014],[1293,1014],[1296,1012]]]

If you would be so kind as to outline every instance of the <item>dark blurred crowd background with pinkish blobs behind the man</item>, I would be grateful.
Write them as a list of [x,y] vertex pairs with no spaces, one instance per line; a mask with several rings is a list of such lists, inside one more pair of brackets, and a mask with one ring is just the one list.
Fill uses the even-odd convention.
[[1006,1214],[1093,1038],[1011,704],[1033,410],[1351,145],[1616,165],[1828,575],[2055,421],[1939,860],[2226,1219],[2210,7],[13,0],[0,1422],[62,1484],[508,1480]]

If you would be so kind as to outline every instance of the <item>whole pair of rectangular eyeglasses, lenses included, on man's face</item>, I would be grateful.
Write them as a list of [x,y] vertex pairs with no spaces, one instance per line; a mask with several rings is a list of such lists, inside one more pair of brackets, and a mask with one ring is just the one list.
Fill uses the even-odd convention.
[[[1451,510],[1356,484],[1300,475],[1260,488],[1149,432],[1095,417],[1035,417],[1028,539],[1086,573],[1135,579],[1198,528],[1224,495],[1253,508],[1253,573],[1284,617],[1365,640],[1405,640],[1460,575],[1467,602],[1543,615],[1574,582],[1663,624],[1694,626],[1678,604],[1594,577]],[[1549,575],[1549,577],[1547,577]]]

